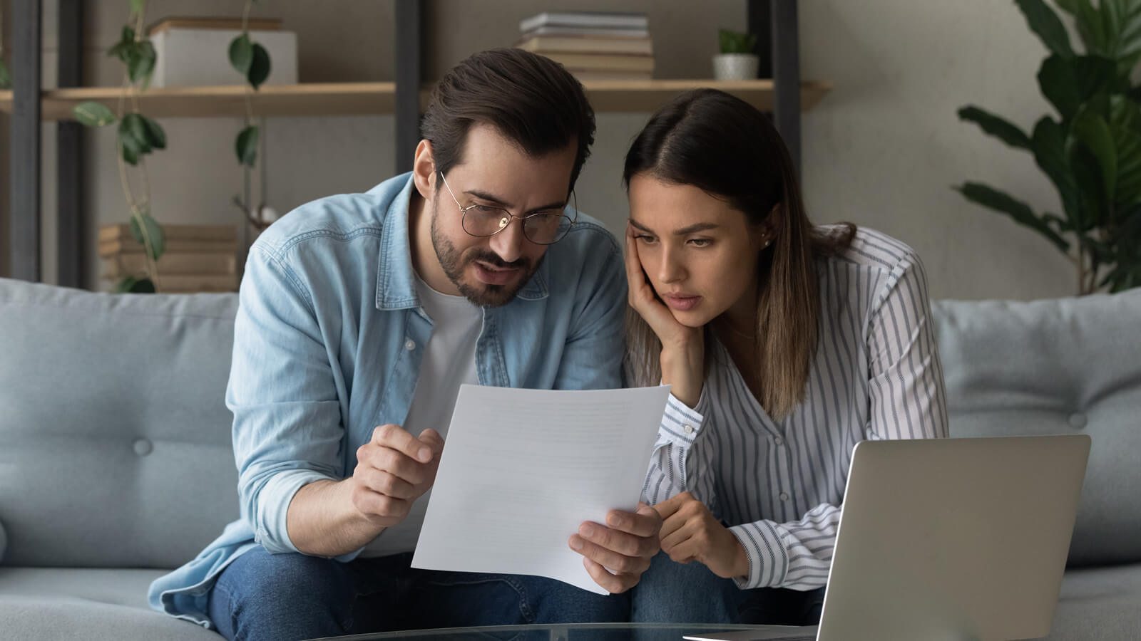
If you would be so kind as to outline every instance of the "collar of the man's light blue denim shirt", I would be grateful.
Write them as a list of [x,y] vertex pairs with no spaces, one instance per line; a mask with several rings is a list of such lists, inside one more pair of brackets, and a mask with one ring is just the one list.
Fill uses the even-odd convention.
[[[416,295],[415,273],[412,270],[412,248],[408,236],[408,204],[412,198],[412,172],[394,179],[405,180],[404,188],[388,205],[382,224],[380,262],[377,267],[377,309],[415,309],[420,307]],[[539,270],[516,298],[542,300],[547,298],[547,270],[544,260]]]

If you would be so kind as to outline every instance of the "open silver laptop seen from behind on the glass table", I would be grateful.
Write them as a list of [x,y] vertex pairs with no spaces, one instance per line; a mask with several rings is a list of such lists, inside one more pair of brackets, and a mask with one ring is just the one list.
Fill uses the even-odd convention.
[[691,640],[1011,641],[1050,633],[1090,437],[863,441],[820,625]]

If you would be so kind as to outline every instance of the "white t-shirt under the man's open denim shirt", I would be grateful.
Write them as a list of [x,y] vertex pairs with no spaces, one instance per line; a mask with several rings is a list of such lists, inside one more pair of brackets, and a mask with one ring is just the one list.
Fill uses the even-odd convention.
[[[420,432],[432,428],[446,439],[460,386],[479,383],[476,342],[484,326],[484,310],[464,297],[437,292],[419,275],[416,293],[421,308],[432,320],[432,331],[424,347],[416,391],[403,428],[412,436],[420,436]],[[408,516],[369,543],[361,555],[386,557],[415,550],[430,495],[431,490],[428,490],[418,498]]]

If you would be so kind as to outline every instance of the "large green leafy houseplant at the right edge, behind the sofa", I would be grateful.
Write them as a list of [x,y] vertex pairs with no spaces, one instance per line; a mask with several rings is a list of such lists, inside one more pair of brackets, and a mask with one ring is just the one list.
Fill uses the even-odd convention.
[[958,116],[1029,152],[1057,188],[1061,214],[981,182],[956,189],[1049,238],[1075,263],[1079,294],[1141,286],[1141,87],[1131,79],[1141,60],[1141,0],[1054,0],[1073,17],[1084,54],[1043,0],[1015,1],[1050,50],[1038,87],[1057,114],[1029,133],[976,106]]

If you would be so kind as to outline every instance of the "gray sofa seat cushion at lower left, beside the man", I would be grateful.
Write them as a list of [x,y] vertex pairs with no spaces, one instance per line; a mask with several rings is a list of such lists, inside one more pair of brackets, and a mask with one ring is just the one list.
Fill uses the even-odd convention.
[[187,620],[151,610],[146,589],[161,570],[0,568],[5,639],[220,641]]

